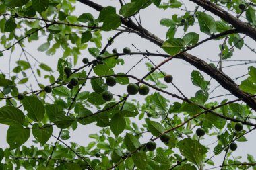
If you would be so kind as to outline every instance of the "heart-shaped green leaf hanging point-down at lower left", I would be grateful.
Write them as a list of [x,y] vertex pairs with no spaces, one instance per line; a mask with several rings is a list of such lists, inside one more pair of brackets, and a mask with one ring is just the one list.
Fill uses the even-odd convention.
[[40,127],[38,124],[33,124],[32,134],[40,144],[44,145],[53,134],[53,126],[44,124],[44,126]]

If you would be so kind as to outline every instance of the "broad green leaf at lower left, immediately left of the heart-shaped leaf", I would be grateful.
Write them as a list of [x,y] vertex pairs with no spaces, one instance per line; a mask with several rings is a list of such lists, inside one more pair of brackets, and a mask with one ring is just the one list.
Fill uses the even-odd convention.
[[22,146],[29,137],[29,128],[23,128],[22,126],[9,126],[6,140],[12,150],[13,148]]

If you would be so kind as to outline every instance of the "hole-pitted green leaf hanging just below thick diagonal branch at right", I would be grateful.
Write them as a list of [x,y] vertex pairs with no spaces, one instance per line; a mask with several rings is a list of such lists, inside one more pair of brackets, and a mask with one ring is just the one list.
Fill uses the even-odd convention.
[[192,71],[191,80],[193,85],[200,87],[203,91],[209,89],[210,83],[205,81],[203,75],[199,71]]

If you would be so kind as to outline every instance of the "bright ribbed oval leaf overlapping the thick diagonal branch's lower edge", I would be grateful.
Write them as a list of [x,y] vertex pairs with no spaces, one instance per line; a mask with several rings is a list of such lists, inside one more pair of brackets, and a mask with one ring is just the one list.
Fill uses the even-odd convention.
[[181,52],[184,47],[185,42],[181,38],[170,38],[162,45],[162,49],[164,49],[164,51],[171,56],[174,56],[175,54]]

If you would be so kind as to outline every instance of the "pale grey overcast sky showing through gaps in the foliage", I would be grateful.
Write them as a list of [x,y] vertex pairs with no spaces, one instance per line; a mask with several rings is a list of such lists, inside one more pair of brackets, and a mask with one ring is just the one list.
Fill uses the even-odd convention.
[[[95,2],[100,3],[100,5],[102,6],[113,5],[118,8],[117,11],[119,10],[118,0],[113,0],[113,1],[95,0]],[[194,5],[192,3],[187,1],[185,3],[187,4],[187,7],[189,7],[189,9],[191,10],[194,9]],[[94,11],[90,7],[87,7],[86,5],[77,3],[76,8],[77,9],[75,10],[74,15],[79,16],[82,13],[92,13],[95,18],[98,17],[98,12]],[[143,27],[150,30],[150,32],[156,34],[162,40],[165,40],[165,35],[168,28],[164,26],[160,26],[159,22],[160,22],[160,19],[162,18],[171,18],[174,13],[181,13],[181,11],[177,9],[167,9],[166,11],[163,11],[162,9],[157,9],[154,5],[150,5],[150,7],[141,11],[142,25]],[[216,20],[219,20],[219,19],[216,17]],[[199,27],[193,26],[189,28],[188,32],[199,33]],[[104,46],[107,42],[107,38],[110,36],[113,36],[114,34],[115,32],[102,32],[102,36],[103,36],[102,45]],[[182,35],[183,35],[182,30],[179,30],[179,32],[177,32],[176,38],[180,38]],[[203,40],[204,38],[207,38],[207,35],[200,33],[200,40]],[[38,48],[38,46],[40,46],[40,44],[44,42],[45,42],[45,39],[42,37],[42,39],[40,39],[36,43],[26,44],[25,49],[28,50],[28,52],[30,52],[34,57],[36,57],[37,60],[39,60],[40,62],[44,62],[47,65],[50,65],[53,69],[55,69],[57,66],[57,60],[62,56],[62,52],[61,50],[59,50],[57,54],[55,54],[54,56],[46,56],[46,54],[42,52],[38,52],[36,49]],[[222,42],[223,40],[221,40],[220,42],[217,42],[217,41],[206,42],[205,44],[202,44],[201,46],[194,48],[193,50],[190,50],[189,53],[194,54],[195,56],[198,56],[199,58],[205,61],[207,61],[207,58],[210,58],[211,60],[218,60],[218,53],[220,52],[218,45],[221,44]],[[250,38],[245,38],[245,42],[251,45],[252,47],[255,46],[255,42]],[[115,39],[115,43],[112,46],[110,46],[109,50],[112,50],[113,48],[117,48],[117,50],[121,52],[125,46],[128,46],[129,48],[131,48],[132,52],[137,52],[137,50],[133,48],[133,46],[131,46],[132,43],[135,44],[135,46],[137,46],[137,48],[139,48],[139,50],[141,51],[148,50],[150,52],[156,52],[158,50],[159,52],[164,53],[163,50],[161,50],[158,46],[156,46],[155,44],[152,44],[148,40],[144,40],[135,34],[127,34],[127,33],[121,34],[121,36]],[[92,46],[94,46],[94,44],[90,43],[89,47],[92,47]],[[1,49],[3,49],[3,47],[1,47]],[[15,67],[15,61],[18,60],[18,58],[20,57],[20,52],[21,52],[20,48],[16,46],[16,51],[11,55],[11,70]],[[84,53],[79,58],[80,63],[84,56],[87,56],[88,58],[92,59],[90,54],[88,54],[88,50],[84,50]],[[135,65],[141,59],[141,57],[142,56],[123,56],[123,59],[125,60],[125,65],[118,66],[117,68],[115,68],[115,73],[118,73],[118,72],[126,73],[131,67],[133,67],[133,65]],[[0,69],[4,73],[8,73],[9,71],[9,59],[10,59],[9,52],[5,52],[4,57],[0,58]],[[163,58],[158,58],[154,56],[152,56],[151,59],[156,65],[163,60]],[[238,50],[237,48],[235,48],[234,56],[232,56],[232,59],[255,60],[255,53],[250,52],[250,50],[246,47],[244,47],[242,50]],[[22,56],[22,60],[25,60],[24,56]],[[50,60],[51,62],[49,62]],[[143,77],[143,75],[145,75],[148,71],[144,63],[145,62],[141,62],[137,67],[135,67],[135,69],[131,71],[130,74],[136,75],[136,77]],[[228,62],[228,63],[224,62],[223,65],[224,66],[230,65],[231,63],[232,62]],[[76,67],[79,67],[79,64]],[[190,74],[191,74],[191,71],[193,71],[193,69],[195,69],[195,67],[188,65],[183,60],[172,60],[171,62],[168,62],[166,65],[161,67],[162,71],[173,75],[174,84],[177,85],[187,97],[194,96],[195,92],[199,90],[198,87],[193,86],[191,83]],[[223,69],[223,71],[224,73],[229,75],[231,78],[235,78],[235,77],[239,77],[241,75],[246,74],[247,66],[242,65],[242,66],[236,66],[236,67],[228,67],[226,69]],[[209,76],[205,74],[203,75],[205,76],[206,80],[210,79]],[[237,83],[240,83],[240,81],[243,79],[246,79],[246,77],[242,79],[238,79]],[[49,83],[49,81],[45,79],[40,79],[40,82],[44,83],[44,85]],[[28,83],[28,85],[30,84],[34,89],[38,89],[38,87],[36,87],[36,81],[33,79],[33,77],[31,77],[30,83]],[[218,85],[218,83],[212,80],[211,89],[214,89],[216,85]],[[24,90],[26,89],[26,87],[24,86],[20,86],[20,88]],[[90,85],[88,85],[88,88],[90,88]],[[119,93],[119,94],[124,93],[125,89],[126,89],[126,86],[121,86],[121,85],[119,86],[119,88],[110,87],[111,92]],[[177,93],[174,87],[169,87],[168,91],[172,93]],[[220,87],[216,89],[216,91],[210,97],[214,97],[216,95],[221,95],[225,93],[228,93],[228,91]],[[170,101],[177,101],[177,99],[172,99],[170,98],[170,96],[164,95],[164,97],[167,97],[168,99],[170,99]],[[129,100],[133,98],[139,99],[139,101],[143,101],[143,97],[139,95],[136,95],[134,97],[129,97]],[[218,99],[218,101],[222,101],[222,99]],[[236,98],[228,97],[228,99],[236,99]],[[0,105],[3,105],[3,101],[0,101]],[[8,146],[8,144],[5,141],[7,128],[8,126],[3,126],[0,124],[1,136],[2,136],[2,138],[0,138],[1,148],[5,148]],[[88,138],[88,134],[96,133],[98,132],[98,130],[99,128],[97,128],[97,126],[94,126],[93,124],[90,124],[87,126],[82,126],[79,124],[77,130],[75,130],[74,132],[72,132],[71,130],[71,133],[70,133],[71,138],[67,141],[77,142],[78,144],[85,146],[91,140],[90,138]],[[54,134],[58,134],[58,133],[59,133],[59,130],[55,129]],[[256,136],[256,132],[251,132],[246,136],[247,140],[249,140],[248,142],[237,142],[238,149],[237,151],[233,152],[232,155],[234,155],[234,157],[238,155],[243,156],[243,159],[241,159],[243,161],[247,160],[246,159],[247,153],[254,155],[254,157],[256,158],[255,136]],[[150,136],[146,136],[145,138],[141,139],[141,142],[148,141],[149,137]],[[31,134],[30,141],[26,142],[26,145],[30,146],[31,144],[33,144],[32,140],[34,140],[34,138],[32,137],[32,134]],[[51,141],[52,142],[55,141],[54,138],[51,138]],[[203,144],[210,144],[215,141],[216,141],[216,136],[210,137],[210,138],[208,138],[207,136],[207,138],[205,140],[202,140],[201,142]],[[214,146],[216,146],[216,144],[209,147],[212,148]],[[212,156],[213,153],[212,152],[209,152],[209,153],[210,154],[208,156]],[[216,162],[217,166],[222,163],[223,157],[224,157],[223,154],[220,154],[214,157],[213,160]]]

